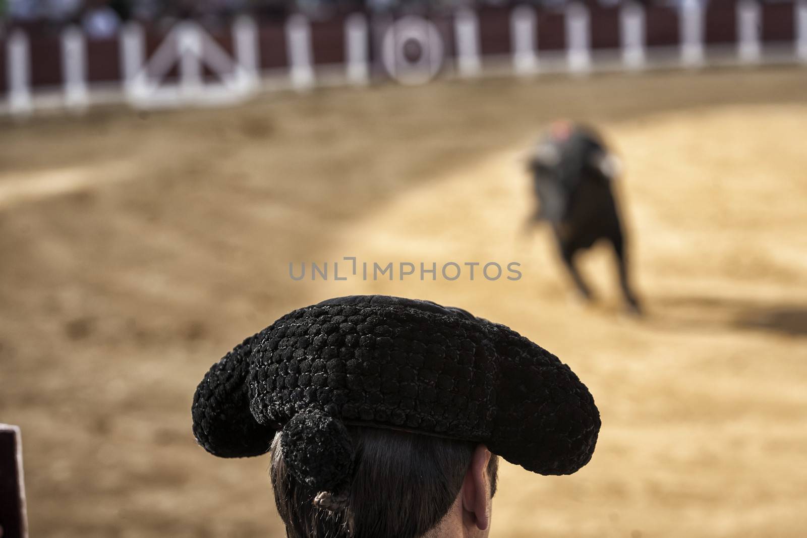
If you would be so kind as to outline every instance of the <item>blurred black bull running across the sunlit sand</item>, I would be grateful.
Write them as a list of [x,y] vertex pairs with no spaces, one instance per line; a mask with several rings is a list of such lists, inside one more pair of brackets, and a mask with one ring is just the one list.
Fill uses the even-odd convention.
[[597,240],[608,240],[617,257],[625,302],[638,312],[628,277],[625,230],[611,185],[617,165],[592,128],[567,121],[553,123],[529,160],[539,205],[528,226],[541,220],[551,223],[563,262],[586,299],[592,298],[592,291],[580,277],[575,256]]

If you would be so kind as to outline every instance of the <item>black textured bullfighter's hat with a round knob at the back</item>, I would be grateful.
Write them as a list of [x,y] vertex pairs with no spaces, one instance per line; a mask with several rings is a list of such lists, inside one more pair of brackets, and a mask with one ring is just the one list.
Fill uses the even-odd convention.
[[282,316],[236,346],[194,394],[193,430],[220,457],[269,451],[316,491],[349,482],[345,425],[484,443],[541,474],[586,465],[594,398],[545,349],[499,323],[434,302],[333,298]]

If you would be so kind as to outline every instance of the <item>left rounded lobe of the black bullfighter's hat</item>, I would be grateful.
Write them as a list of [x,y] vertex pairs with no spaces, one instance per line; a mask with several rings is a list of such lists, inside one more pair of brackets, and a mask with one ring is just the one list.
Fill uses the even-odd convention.
[[265,332],[250,336],[228,352],[196,388],[191,407],[194,436],[214,456],[260,456],[269,451],[274,429],[253,417],[247,384],[250,356]]

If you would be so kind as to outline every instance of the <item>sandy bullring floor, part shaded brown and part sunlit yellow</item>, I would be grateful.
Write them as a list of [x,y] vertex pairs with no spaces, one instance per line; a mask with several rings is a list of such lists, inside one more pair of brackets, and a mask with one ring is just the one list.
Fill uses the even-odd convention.
[[[0,130],[0,421],[31,536],[282,536],[267,458],[195,446],[203,373],[278,315],[389,293],[508,323],[569,363],[590,465],[504,465],[491,536],[802,536],[807,73],[439,83]],[[625,161],[646,319],[571,300],[523,151],[558,116]],[[518,282],[291,282],[288,263],[509,261]]]

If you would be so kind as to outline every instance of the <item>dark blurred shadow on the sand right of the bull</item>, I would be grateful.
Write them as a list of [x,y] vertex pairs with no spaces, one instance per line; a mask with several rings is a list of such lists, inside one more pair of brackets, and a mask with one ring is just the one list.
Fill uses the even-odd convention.
[[652,302],[654,318],[674,326],[736,327],[807,336],[805,303],[709,296],[656,297]]

